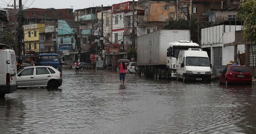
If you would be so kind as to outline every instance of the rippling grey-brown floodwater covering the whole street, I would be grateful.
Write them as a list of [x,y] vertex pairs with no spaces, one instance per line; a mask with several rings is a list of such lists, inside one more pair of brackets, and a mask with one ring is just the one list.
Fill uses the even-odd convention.
[[63,70],[58,90],[19,89],[0,100],[0,133],[256,133],[256,86],[143,79]]

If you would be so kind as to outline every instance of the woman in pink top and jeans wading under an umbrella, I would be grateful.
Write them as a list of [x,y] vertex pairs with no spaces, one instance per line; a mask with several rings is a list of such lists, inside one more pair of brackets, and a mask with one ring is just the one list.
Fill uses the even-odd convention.
[[124,85],[125,84],[125,75],[126,75],[126,70],[127,70],[127,65],[125,63],[131,62],[128,59],[120,59],[117,60],[119,64],[118,69],[119,69],[119,80],[120,80],[120,84]]

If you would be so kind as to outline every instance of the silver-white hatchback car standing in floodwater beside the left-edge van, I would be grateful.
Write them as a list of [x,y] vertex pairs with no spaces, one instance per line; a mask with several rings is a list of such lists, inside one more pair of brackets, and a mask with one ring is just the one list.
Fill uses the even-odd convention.
[[62,74],[52,66],[29,66],[17,71],[18,88],[58,88],[61,84]]

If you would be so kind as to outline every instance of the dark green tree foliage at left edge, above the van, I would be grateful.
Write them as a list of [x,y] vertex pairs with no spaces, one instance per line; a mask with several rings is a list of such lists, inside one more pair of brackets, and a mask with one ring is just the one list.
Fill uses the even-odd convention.
[[13,39],[13,34],[8,31],[0,31],[0,43],[14,46],[15,40]]

